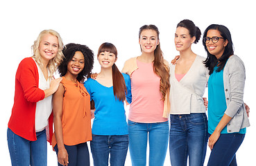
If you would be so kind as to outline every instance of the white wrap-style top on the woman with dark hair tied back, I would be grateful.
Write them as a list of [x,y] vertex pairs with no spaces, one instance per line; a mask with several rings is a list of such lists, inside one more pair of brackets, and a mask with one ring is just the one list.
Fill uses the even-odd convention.
[[178,82],[175,77],[176,65],[170,64],[171,114],[205,113],[203,94],[207,86],[209,71],[203,61],[205,57],[196,55],[189,71]]

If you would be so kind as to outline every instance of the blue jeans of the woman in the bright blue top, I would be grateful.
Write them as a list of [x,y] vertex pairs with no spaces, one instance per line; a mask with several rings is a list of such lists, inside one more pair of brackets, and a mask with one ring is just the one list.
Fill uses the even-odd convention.
[[94,166],[108,166],[109,156],[111,166],[124,165],[128,143],[128,135],[100,136],[92,134],[91,151]]

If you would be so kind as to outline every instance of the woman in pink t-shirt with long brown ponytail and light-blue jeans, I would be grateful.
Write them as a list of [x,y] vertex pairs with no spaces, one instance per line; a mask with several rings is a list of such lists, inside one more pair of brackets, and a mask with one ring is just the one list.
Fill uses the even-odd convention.
[[130,157],[133,165],[164,165],[169,140],[169,66],[154,25],[139,29],[142,55],[128,59],[123,73],[131,80],[132,103],[128,116]]

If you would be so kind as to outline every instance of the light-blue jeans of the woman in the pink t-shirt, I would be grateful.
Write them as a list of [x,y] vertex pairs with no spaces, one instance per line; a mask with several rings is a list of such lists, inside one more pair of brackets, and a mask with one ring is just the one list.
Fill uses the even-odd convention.
[[168,121],[139,123],[128,120],[128,133],[132,165],[146,166],[147,142],[149,142],[149,165],[164,165],[169,140]]

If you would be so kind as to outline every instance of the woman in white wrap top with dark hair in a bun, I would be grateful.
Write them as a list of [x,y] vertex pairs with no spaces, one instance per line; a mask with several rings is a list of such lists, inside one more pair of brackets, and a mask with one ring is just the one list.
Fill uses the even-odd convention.
[[171,165],[203,166],[207,147],[207,116],[203,94],[208,71],[204,57],[191,50],[200,39],[200,29],[188,19],[180,21],[174,42],[180,51],[177,64],[170,65],[171,127],[169,151]]

